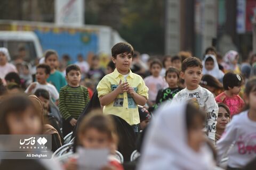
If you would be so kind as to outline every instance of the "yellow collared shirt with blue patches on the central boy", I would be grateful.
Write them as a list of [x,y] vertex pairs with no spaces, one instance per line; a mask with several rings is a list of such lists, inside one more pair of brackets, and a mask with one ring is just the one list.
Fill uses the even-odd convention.
[[[137,94],[148,99],[148,88],[140,75],[132,73],[130,70],[126,78],[130,87],[133,87]],[[117,69],[103,77],[97,86],[98,97],[105,96],[111,91],[115,90],[119,81],[125,82],[124,75],[120,74]],[[139,124],[140,116],[138,112],[138,105],[130,94],[124,92],[119,94],[117,98],[107,106],[103,107],[103,114],[113,114],[123,118],[130,125]]]

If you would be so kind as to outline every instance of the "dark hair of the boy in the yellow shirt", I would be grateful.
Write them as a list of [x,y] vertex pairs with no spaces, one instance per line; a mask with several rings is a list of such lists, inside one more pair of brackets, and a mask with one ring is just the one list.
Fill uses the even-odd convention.
[[134,49],[132,45],[129,43],[117,43],[111,49],[112,57],[114,57],[115,59],[118,54],[123,54],[123,53],[127,53],[127,54],[131,53],[131,55],[133,56]]

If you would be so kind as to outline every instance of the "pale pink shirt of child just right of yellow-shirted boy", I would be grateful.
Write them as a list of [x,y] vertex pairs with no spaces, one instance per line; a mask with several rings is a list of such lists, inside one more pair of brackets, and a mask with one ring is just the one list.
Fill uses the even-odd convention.
[[150,75],[144,79],[146,86],[148,87],[148,99],[149,101],[156,101],[158,90],[165,89],[168,84],[163,77],[153,77]]

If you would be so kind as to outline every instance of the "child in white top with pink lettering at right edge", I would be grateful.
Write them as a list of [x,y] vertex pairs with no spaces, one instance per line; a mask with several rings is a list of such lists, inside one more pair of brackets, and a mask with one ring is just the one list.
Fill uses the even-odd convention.
[[256,158],[256,78],[245,87],[247,110],[235,115],[217,142],[218,159],[228,151],[228,169],[243,168]]

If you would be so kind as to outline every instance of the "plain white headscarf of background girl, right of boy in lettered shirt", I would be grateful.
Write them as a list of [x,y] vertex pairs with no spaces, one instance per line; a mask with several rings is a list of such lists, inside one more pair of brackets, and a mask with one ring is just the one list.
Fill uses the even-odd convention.
[[[213,69],[209,69],[207,67],[207,64],[213,61]],[[204,60],[202,62],[203,64],[203,74],[210,74],[216,79],[222,81],[222,78],[224,76],[224,73],[219,69],[218,62],[216,60],[216,57],[214,55],[208,54],[205,55]]]

